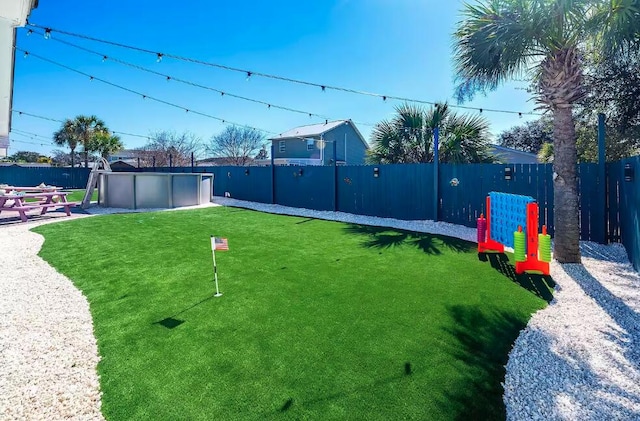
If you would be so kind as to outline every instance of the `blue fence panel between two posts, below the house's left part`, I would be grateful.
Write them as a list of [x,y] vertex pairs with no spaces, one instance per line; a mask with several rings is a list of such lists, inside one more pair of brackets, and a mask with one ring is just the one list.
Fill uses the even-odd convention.
[[335,168],[276,166],[275,202],[297,208],[335,209]]

